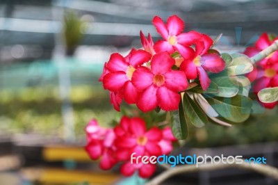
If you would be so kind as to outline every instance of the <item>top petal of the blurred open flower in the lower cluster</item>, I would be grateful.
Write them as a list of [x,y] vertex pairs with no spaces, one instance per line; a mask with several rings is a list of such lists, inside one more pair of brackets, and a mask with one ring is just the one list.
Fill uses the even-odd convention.
[[135,136],[144,136],[146,130],[146,123],[142,118],[131,118],[131,125],[129,125],[131,134]]

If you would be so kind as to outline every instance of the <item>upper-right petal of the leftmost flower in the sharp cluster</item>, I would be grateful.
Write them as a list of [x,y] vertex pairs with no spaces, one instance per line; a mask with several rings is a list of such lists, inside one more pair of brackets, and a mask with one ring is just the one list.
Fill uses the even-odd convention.
[[129,58],[129,63],[137,68],[138,66],[142,65],[143,63],[151,60],[152,55],[149,54],[147,51],[142,49],[138,49],[137,51],[132,51],[131,57]]

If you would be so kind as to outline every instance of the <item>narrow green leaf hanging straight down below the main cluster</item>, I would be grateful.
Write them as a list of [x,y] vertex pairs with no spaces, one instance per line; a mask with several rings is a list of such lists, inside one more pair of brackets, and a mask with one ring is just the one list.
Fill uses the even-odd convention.
[[188,136],[188,128],[182,101],[179,102],[179,109],[177,111],[171,111],[170,115],[172,134],[177,139],[186,139]]

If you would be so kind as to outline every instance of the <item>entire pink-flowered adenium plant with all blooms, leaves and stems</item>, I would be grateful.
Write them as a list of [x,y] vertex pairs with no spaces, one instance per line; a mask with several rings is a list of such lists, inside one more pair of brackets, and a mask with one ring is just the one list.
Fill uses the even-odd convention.
[[[85,150],[92,160],[100,159],[100,168],[108,170],[120,163],[122,175],[138,171],[142,178],[152,177],[156,166],[131,156],[170,154],[188,137],[189,124],[237,127],[251,114],[274,108],[278,99],[275,35],[263,33],[253,47],[230,54],[214,48],[221,35],[213,40],[204,33],[185,32],[177,15],[168,17],[166,23],[155,16],[152,23],[161,40],[154,42],[150,34],[145,37],[140,31],[142,49],[133,48],[127,56],[111,54],[99,79],[122,118],[109,128],[90,120],[85,128]],[[122,102],[131,104],[130,108],[121,108]],[[230,166],[278,179],[278,170],[263,164],[221,163],[199,168],[164,166],[165,172],[149,184],[181,172]]]

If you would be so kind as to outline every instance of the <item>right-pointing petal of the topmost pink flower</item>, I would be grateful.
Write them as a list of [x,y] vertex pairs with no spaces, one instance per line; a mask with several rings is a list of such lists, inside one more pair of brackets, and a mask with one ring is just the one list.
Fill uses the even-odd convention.
[[202,35],[197,31],[189,31],[188,33],[181,33],[177,36],[177,42],[181,45],[193,45],[199,40]]

